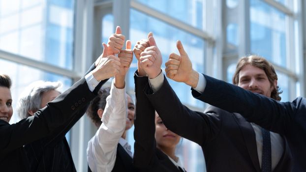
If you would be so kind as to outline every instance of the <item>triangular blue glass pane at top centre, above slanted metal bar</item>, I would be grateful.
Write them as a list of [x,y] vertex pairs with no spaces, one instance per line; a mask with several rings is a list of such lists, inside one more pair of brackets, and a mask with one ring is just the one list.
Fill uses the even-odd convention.
[[149,7],[203,29],[203,0],[137,0]]

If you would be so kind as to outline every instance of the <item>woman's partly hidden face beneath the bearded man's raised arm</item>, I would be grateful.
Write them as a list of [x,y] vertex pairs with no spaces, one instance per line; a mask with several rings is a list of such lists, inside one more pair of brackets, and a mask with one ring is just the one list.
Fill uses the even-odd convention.
[[155,140],[159,148],[175,148],[181,136],[168,130],[161,118],[155,113]]

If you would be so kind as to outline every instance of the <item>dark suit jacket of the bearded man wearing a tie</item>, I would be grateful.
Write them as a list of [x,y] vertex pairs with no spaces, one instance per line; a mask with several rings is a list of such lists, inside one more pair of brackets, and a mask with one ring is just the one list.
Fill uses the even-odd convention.
[[[185,107],[167,82],[152,92],[145,89],[153,107],[168,129],[198,143],[203,150],[207,172],[261,172],[255,133],[238,114],[210,107],[205,113]],[[287,143],[274,172],[290,172]]]

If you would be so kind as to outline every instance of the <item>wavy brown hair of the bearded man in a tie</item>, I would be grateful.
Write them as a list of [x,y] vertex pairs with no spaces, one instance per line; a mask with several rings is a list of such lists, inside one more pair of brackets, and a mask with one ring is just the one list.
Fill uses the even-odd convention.
[[[268,77],[268,80],[269,80],[270,84],[272,86],[274,86],[274,81],[275,80],[277,81],[277,75],[276,75],[274,67],[265,58],[257,56],[257,55],[250,55],[250,56],[247,56],[247,57],[242,57],[238,61],[236,71],[235,71],[235,74],[234,74],[234,77],[233,77],[233,84],[234,85],[239,84],[239,72],[247,64],[258,67],[258,68],[264,70],[267,77]],[[279,101],[281,99],[279,94],[281,94],[281,93],[282,93],[282,91],[280,90],[280,88],[278,86],[276,86],[276,88],[274,88],[271,92],[271,98]]]

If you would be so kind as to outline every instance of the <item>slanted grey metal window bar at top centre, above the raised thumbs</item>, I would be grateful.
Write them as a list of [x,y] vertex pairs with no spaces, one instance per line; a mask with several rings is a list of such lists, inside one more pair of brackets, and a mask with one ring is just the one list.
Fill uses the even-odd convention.
[[185,30],[191,34],[194,34],[200,38],[203,38],[209,42],[212,42],[214,43],[214,38],[208,34],[207,32],[203,31],[203,30],[200,30],[200,29],[197,29],[195,27],[192,27],[188,24],[185,24],[184,22],[181,22],[173,17],[170,17],[166,14],[163,14],[157,10],[154,10],[153,8],[151,7],[148,7],[147,5],[144,5],[144,4],[141,4],[140,2],[137,2],[135,0],[131,0],[130,1],[130,6],[142,13],[145,13],[147,15],[150,15],[154,18],[157,18],[169,25],[172,25],[178,29],[182,29],[182,30]]

